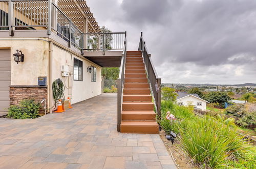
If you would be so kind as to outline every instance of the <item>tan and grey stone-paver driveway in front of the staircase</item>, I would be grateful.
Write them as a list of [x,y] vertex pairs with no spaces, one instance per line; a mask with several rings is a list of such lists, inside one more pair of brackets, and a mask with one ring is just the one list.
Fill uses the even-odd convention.
[[37,119],[0,118],[0,168],[176,168],[158,134],[116,131],[117,95]]

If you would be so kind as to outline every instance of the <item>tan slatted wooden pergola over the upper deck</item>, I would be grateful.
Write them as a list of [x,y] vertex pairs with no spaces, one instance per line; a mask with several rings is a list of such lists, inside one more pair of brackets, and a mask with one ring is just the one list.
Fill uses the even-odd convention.
[[58,0],[58,7],[84,33],[101,32],[96,19],[84,0]]

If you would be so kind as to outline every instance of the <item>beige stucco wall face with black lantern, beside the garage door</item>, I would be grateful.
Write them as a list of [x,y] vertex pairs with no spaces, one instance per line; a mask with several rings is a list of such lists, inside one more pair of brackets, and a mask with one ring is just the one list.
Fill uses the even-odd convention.
[[[37,85],[38,76],[47,76],[49,43],[44,40],[0,40],[1,48],[11,50],[11,85]],[[24,62],[18,64],[13,53],[22,50]]]

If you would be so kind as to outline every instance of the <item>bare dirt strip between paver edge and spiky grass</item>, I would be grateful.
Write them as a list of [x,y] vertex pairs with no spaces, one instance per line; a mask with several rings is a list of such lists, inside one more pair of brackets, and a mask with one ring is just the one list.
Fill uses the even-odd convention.
[[186,155],[186,153],[181,149],[180,147],[180,142],[177,141],[177,139],[174,140],[174,145],[172,144],[171,141],[168,141],[165,138],[165,132],[162,130],[159,132],[159,135],[168,150],[168,153],[170,156],[173,156],[176,164],[178,165],[179,168],[198,168],[194,165],[191,165],[191,158]]

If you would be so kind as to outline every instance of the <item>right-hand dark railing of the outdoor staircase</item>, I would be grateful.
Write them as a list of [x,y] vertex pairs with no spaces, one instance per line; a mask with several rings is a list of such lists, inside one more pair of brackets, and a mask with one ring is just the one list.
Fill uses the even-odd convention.
[[150,83],[150,89],[156,107],[156,113],[158,114],[158,116],[161,116],[161,78],[159,78],[157,75],[153,62],[151,60],[151,54],[148,53],[145,41],[143,40],[142,32],[140,36],[140,44],[138,50],[142,52],[144,64],[146,67],[147,79]]

